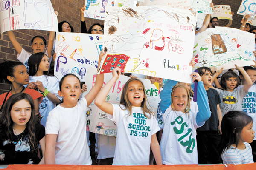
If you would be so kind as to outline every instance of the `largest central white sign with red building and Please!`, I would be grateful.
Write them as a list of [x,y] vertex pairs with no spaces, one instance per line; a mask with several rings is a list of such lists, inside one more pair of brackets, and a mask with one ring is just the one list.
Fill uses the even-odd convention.
[[[100,73],[122,72],[191,82],[196,12],[166,6],[110,8],[105,19],[108,51]],[[192,45],[192,46],[191,46]]]

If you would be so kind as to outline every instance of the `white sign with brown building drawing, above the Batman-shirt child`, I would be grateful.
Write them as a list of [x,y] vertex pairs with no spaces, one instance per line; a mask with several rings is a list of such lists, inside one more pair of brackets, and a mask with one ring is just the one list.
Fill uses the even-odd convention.
[[195,37],[194,69],[205,66],[220,70],[235,68],[234,64],[253,64],[254,36],[235,28],[218,28],[208,28]]

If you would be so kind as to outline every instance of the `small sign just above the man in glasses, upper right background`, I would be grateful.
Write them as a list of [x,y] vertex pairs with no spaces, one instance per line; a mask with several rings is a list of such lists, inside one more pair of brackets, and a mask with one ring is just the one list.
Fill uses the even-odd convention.
[[213,6],[212,18],[217,17],[218,20],[227,19],[232,20],[231,8],[227,5],[216,5]]

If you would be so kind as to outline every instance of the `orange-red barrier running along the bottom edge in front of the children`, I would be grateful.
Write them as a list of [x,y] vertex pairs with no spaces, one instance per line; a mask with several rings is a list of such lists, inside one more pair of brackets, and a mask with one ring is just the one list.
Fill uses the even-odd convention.
[[256,163],[242,165],[148,165],[148,166],[81,166],[81,165],[9,165],[4,170],[256,170]]

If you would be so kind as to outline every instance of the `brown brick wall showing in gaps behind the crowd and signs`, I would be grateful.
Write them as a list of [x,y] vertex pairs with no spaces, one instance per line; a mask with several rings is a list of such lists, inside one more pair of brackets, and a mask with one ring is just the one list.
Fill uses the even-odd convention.
[[[230,5],[231,10],[235,12],[233,16],[232,28],[240,28],[242,16],[237,15],[236,12],[241,4],[242,0],[214,0],[212,1],[215,5]],[[58,11],[58,21],[66,20],[69,22],[75,32],[80,32],[80,18],[81,12],[80,8],[84,5],[85,0],[51,0],[53,8]],[[219,20],[220,26],[225,26],[229,20]],[[104,24],[103,20],[88,19],[86,18],[87,29],[93,23]],[[253,26],[255,27],[255,26]],[[14,34],[17,38],[17,41],[22,44],[22,47],[26,51],[32,52],[31,48],[31,39],[36,35],[41,35],[48,40],[47,31],[35,31],[35,30],[18,30],[14,31]],[[47,42],[48,43],[48,42]],[[17,51],[13,48],[12,42],[9,41],[9,38],[6,33],[1,35],[0,39],[0,62],[4,60],[17,60]],[[0,82],[0,94],[6,92],[10,89],[10,85],[5,82]]]

